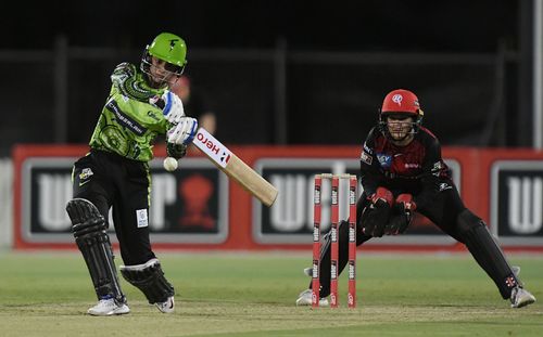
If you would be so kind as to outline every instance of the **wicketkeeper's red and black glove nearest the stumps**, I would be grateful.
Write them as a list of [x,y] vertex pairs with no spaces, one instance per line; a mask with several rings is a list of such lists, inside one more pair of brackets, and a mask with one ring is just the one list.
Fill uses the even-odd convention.
[[374,237],[381,237],[384,234],[384,228],[389,222],[391,205],[393,202],[392,192],[384,187],[379,187],[369,198],[370,204],[362,213],[362,232]]

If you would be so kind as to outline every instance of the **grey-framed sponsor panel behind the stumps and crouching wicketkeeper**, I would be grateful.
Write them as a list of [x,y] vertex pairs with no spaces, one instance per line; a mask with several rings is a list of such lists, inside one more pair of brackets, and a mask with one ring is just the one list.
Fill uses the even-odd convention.
[[[445,160],[453,171],[453,179],[460,181],[460,165],[457,160]],[[253,238],[260,244],[308,244],[313,237],[314,177],[319,173],[359,173],[359,159],[352,158],[264,158],[255,163],[255,169],[264,179],[279,190],[275,204],[264,207],[253,202]],[[358,181],[358,196],[362,194]],[[340,219],[349,218],[349,181],[342,179],[339,189]],[[320,191],[323,232],[330,228],[330,181],[323,179]],[[428,219],[416,217],[408,233],[386,236],[368,244],[454,244]]]

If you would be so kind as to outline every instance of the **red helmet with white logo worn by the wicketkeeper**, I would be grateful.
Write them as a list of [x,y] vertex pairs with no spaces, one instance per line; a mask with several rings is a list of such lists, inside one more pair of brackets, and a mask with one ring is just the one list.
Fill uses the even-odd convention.
[[387,116],[390,115],[413,117],[411,133],[417,133],[422,125],[425,113],[420,109],[416,94],[409,90],[396,89],[384,96],[382,107],[379,109],[379,128],[386,135],[389,135]]

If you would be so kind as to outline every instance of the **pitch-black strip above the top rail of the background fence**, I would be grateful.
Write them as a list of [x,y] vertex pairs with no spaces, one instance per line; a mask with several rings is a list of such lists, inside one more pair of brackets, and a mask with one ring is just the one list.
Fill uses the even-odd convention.
[[4,25],[16,30],[4,31],[2,44],[51,48],[65,34],[75,46],[141,48],[156,31],[171,30],[191,48],[274,48],[278,37],[306,50],[495,52],[501,39],[518,47],[514,0],[81,2],[12,11]]

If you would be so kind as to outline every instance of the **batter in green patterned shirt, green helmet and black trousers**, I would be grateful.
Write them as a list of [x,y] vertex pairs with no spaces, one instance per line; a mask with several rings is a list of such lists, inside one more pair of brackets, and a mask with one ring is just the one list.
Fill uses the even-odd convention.
[[121,273],[161,312],[174,311],[174,287],[164,276],[149,239],[153,142],[166,134],[168,156],[185,156],[198,122],[186,117],[180,99],[166,88],[181,76],[185,41],[162,33],[147,46],[140,66],[119,64],[90,139],[90,152],[73,168],[73,199],[66,211],[77,247],[87,263],[98,303],[91,315],[128,313],[106,230],[109,210],[125,265]]

